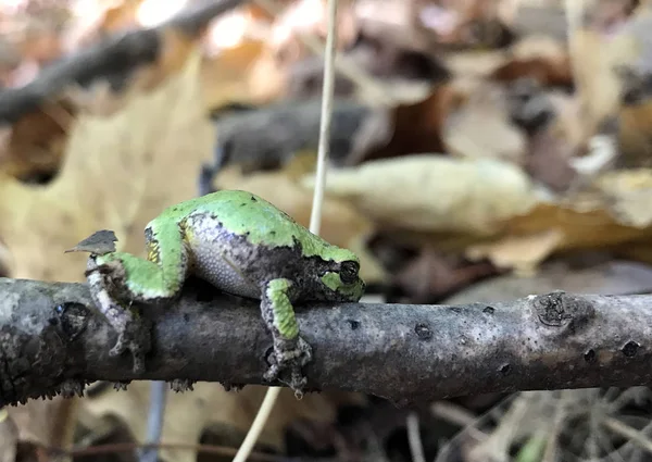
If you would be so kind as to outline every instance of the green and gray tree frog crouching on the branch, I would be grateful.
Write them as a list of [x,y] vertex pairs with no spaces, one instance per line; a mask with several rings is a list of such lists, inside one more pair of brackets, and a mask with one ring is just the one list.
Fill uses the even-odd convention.
[[113,245],[86,246],[92,299],[118,333],[111,354],[130,351],[137,373],[145,370],[150,337],[131,303],[170,303],[190,274],[225,292],[261,300],[274,340],[264,379],[289,372],[287,385],[294,391],[305,386],[301,369],[312,349],[299,335],[292,303],[355,302],[365,289],[353,252],[247,191],[221,190],[170,207],[147,225],[145,238],[147,259]]

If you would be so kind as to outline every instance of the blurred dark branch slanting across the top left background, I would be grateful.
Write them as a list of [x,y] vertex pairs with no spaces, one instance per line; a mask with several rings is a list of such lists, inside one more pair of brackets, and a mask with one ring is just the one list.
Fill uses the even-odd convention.
[[151,63],[159,57],[161,30],[173,27],[197,35],[213,17],[240,3],[242,0],[208,1],[158,27],[123,33],[66,57],[43,68],[29,84],[0,91],[0,123],[15,122],[72,84],[87,85],[98,77],[125,74],[139,64]]

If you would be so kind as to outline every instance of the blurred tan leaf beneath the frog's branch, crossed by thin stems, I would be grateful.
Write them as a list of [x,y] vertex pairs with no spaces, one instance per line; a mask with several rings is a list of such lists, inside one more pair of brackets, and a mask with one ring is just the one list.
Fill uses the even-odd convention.
[[[266,387],[248,386],[241,391],[226,391],[220,384],[198,383],[191,392],[167,392],[165,421],[161,440],[168,445],[199,444],[209,427],[220,432],[225,445],[237,447],[249,429],[263,400]],[[84,400],[85,410],[96,420],[117,417],[125,423],[137,440],[145,439],[150,385],[134,382],[127,392],[109,390],[97,398]],[[354,394],[309,394],[297,401],[289,389],[281,390],[272,411],[262,444],[284,449],[285,428],[298,419],[331,422],[336,416],[336,404],[358,403],[361,397]],[[166,462],[195,462],[197,452],[186,448],[164,448],[159,453]]]

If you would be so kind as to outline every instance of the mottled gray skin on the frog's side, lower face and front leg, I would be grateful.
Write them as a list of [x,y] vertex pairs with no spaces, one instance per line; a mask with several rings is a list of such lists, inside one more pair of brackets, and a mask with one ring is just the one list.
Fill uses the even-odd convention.
[[[287,338],[279,332],[274,305],[265,290],[271,280],[285,278],[292,282],[287,294],[292,304],[348,301],[347,295],[338,296],[327,290],[318,277],[326,272],[339,272],[340,263],[318,255],[305,257],[298,239],[292,247],[252,245],[246,236],[225,229],[215,216],[196,214],[190,215],[188,221],[192,228],[206,230],[201,242],[195,244],[193,273],[227,294],[261,300],[261,314],[274,338],[275,351],[268,358],[272,365],[265,373],[265,379],[276,379],[281,370],[289,369],[291,377],[287,385],[296,391],[301,390],[306,383],[301,370],[312,360],[312,348],[301,336]],[[214,259],[215,254],[223,255],[223,259]]]

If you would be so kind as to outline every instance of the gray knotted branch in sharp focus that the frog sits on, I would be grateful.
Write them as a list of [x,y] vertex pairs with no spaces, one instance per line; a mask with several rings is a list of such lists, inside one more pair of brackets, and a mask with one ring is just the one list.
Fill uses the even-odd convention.
[[[491,305],[299,308],[309,385],[398,403],[492,391],[649,384],[652,296],[553,292]],[[272,346],[256,301],[189,282],[153,323],[148,371],[109,357],[115,335],[85,284],[0,278],[0,405],[91,380],[261,384]]]

